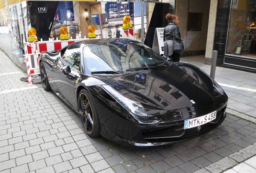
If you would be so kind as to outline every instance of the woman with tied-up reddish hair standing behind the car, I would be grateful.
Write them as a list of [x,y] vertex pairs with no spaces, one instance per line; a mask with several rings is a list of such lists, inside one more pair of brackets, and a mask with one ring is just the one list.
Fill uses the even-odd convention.
[[176,40],[182,41],[180,38],[180,30],[179,30],[179,17],[174,14],[166,14],[165,18],[170,21],[170,23],[165,27],[163,31],[163,42],[168,45],[168,53],[167,56],[173,58],[174,62],[180,62],[180,54],[173,52],[173,37]]

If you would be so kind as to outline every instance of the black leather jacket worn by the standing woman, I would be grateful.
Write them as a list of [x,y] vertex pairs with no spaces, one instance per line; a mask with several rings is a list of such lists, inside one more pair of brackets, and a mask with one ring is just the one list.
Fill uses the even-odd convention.
[[173,40],[173,32],[175,39],[182,41],[182,39],[180,38],[179,26],[176,25],[174,22],[170,22],[163,30],[163,41]]

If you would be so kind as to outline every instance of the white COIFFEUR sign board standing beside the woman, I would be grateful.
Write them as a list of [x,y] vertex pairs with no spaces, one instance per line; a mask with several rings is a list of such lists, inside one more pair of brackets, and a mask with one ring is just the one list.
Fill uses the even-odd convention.
[[159,54],[163,54],[163,30],[165,28],[155,28],[155,35],[153,40],[152,49],[158,52]]

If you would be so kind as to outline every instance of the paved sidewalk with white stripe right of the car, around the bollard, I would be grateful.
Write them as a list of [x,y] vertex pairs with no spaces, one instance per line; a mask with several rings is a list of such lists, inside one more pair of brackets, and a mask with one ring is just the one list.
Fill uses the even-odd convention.
[[[193,64],[210,75],[211,66],[203,60],[204,56],[181,58],[182,62]],[[256,123],[256,73],[216,67],[215,80],[229,97],[227,112]]]

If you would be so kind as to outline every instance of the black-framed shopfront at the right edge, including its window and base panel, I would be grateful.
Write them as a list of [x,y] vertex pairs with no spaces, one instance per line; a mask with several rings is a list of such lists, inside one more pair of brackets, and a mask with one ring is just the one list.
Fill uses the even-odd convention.
[[256,72],[256,1],[219,0],[217,9],[217,64]]

